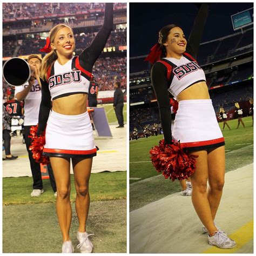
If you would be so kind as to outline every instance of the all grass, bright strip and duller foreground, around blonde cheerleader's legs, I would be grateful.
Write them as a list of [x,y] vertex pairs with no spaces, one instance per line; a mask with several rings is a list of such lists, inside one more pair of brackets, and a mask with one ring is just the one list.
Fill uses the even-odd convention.
[[[126,252],[126,172],[92,173],[87,231],[95,253]],[[32,177],[3,178],[3,252],[58,253],[62,235],[56,215],[50,180],[43,180],[41,197],[30,197]],[[75,247],[78,219],[76,190],[71,175],[72,224],[70,237]]]

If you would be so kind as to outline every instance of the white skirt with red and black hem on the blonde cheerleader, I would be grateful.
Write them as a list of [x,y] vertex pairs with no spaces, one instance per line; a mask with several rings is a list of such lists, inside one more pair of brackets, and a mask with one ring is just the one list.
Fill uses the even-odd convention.
[[45,156],[91,158],[96,152],[88,112],[75,116],[51,112],[46,126]]

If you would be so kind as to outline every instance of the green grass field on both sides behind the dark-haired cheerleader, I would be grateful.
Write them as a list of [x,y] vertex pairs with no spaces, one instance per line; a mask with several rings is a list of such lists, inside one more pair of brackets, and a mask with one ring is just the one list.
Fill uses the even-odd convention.
[[[243,118],[245,128],[238,120],[230,120],[231,131],[223,131],[225,137],[226,172],[253,163],[253,127],[252,117]],[[221,129],[223,123],[219,123]],[[158,145],[163,136],[152,136],[130,142],[130,211],[169,194],[180,191],[179,181],[172,182],[159,174],[153,167],[149,151]]]

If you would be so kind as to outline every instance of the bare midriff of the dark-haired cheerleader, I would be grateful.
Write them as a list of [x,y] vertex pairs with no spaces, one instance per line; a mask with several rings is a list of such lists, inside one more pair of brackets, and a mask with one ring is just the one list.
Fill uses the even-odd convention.
[[187,87],[177,96],[178,102],[187,99],[210,99],[208,87],[205,82],[199,82]]

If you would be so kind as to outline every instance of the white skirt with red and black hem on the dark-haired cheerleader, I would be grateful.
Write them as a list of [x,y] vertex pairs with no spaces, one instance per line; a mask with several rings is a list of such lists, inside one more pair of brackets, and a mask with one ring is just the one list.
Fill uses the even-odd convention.
[[172,135],[187,151],[225,145],[211,99],[181,100]]

